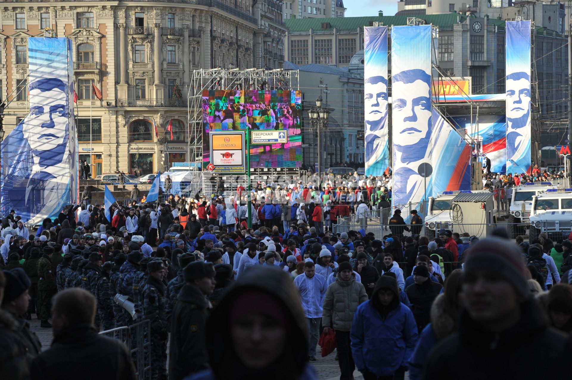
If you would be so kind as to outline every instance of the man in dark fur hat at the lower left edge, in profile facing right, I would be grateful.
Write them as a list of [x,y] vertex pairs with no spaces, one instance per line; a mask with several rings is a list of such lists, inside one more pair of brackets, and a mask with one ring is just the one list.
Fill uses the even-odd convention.
[[[18,326],[14,331],[17,331],[18,335],[22,338],[20,344],[25,347],[26,354],[29,355],[29,357],[35,357],[41,353],[42,345],[37,335],[30,330],[29,322],[21,317],[25,315],[28,310],[30,301],[28,292],[31,287],[30,278],[21,268],[4,270],[2,273],[6,279],[3,289],[3,298],[0,297],[2,311],[9,314],[11,317],[10,320],[15,322],[15,325]],[[0,333],[0,335],[2,334]],[[2,339],[6,339],[6,337],[2,335]],[[7,362],[3,363],[7,365]],[[5,372],[5,370],[7,372]],[[11,373],[11,371],[7,370],[7,366],[2,370],[2,374],[6,373]]]

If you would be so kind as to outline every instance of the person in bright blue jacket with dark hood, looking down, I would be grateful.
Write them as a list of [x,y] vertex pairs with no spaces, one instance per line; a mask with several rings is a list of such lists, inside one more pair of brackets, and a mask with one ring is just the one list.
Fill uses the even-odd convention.
[[382,276],[369,301],[353,315],[351,348],[365,380],[402,378],[418,333],[409,307],[399,301],[395,278]]

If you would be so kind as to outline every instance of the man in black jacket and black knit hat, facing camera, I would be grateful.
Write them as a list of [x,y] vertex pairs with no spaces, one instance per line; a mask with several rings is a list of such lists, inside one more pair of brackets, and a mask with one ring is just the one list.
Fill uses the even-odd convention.
[[411,302],[415,322],[418,331],[421,333],[423,328],[430,322],[431,304],[439,295],[442,286],[438,282],[430,279],[430,273],[427,266],[418,265],[413,270],[414,283],[405,289],[407,298]]

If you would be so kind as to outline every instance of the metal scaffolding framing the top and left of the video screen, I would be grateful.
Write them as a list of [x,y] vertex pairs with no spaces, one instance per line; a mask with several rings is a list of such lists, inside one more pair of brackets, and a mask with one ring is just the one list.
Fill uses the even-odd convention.
[[[194,70],[189,87],[187,112],[189,169],[200,171],[202,193],[214,193],[216,179],[205,173],[202,160],[204,125],[202,123],[202,93],[205,90],[300,90],[298,70],[265,69],[201,69]],[[247,152],[249,154],[249,152]],[[235,176],[236,177],[236,176]]]

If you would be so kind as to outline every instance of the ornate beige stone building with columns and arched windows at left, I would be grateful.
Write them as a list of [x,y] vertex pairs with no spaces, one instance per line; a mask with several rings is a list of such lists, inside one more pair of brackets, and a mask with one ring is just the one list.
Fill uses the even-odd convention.
[[[264,3],[271,1],[278,3]],[[27,39],[51,29],[73,41],[80,159],[92,164],[92,175],[147,174],[184,162],[193,70],[276,68],[284,59],[282,10],[264,7],[256,17],[255,10],[252,0],[3,2],[4,129],[9,133],[29,112]],[[92,95],[92,83],[102,101]]]

